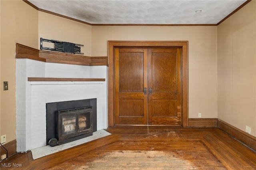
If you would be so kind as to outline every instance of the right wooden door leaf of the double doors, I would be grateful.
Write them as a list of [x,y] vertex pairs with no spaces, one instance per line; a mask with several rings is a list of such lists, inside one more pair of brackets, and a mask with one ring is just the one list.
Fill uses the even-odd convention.
[[180,55],[177,48],[148,49],[149,125],[181,125]]

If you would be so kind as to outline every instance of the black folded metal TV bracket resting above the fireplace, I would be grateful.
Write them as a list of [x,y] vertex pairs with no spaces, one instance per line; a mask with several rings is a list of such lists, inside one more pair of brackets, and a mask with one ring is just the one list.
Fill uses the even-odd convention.
[[[54,48],[43,47],[43,42],[54,43]],[[40,49],[46,49],[50,51],[60,51],[63,53],[84,54],[84,53],[81,53],[81,47],[78,47],[78,46],[84,46],[84,45],[40,38]]]

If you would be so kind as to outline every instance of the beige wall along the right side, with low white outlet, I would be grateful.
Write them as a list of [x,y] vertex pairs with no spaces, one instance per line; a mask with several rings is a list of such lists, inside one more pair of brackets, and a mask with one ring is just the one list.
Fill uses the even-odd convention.
[[217,28],[218,118],[256,136],[256,1]]

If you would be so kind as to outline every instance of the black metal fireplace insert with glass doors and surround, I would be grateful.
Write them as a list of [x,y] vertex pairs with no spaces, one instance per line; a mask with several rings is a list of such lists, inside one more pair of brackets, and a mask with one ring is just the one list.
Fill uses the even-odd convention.
[[46,143],[56,146],[97,131],[96,99],[46,103]]

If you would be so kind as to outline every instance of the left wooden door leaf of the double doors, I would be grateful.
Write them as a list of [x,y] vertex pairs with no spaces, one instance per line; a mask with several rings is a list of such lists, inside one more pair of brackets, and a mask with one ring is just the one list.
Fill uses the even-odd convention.
[[145,70],[147,59],[144,49],[118,48],[116,60],[116,124],[146,125],[148,121],[148,99],[144,95],[147,82]]

